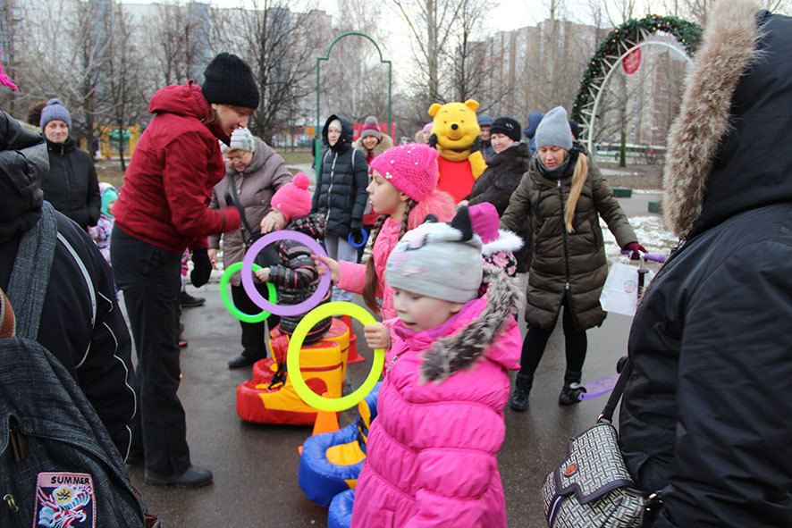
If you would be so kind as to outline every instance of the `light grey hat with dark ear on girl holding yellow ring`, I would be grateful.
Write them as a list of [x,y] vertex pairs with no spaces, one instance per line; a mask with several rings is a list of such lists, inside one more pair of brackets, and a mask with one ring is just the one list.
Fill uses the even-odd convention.
[[391,288],[453,303],[478,297],[484,261],[482,241],[473,232],[467,207],[451,223],[426,222],[408,231],[385,265]]

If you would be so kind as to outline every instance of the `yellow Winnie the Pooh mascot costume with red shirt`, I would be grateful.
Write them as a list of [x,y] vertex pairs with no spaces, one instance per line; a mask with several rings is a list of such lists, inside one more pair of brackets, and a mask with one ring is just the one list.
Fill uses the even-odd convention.
[[437,157],[437,190],[442,190],[459,203],[470,194],[486,163],[478,150],[481,131],[476,119],[478,103],[468,99],[464,103],[434,103],[429,115],[434,117],[429,145],[435,147]]

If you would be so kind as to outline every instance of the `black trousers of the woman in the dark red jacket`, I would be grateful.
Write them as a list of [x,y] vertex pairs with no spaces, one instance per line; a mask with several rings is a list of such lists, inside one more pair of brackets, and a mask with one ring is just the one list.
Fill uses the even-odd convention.
[[139,406],[131,453],[143,453],[156,474],[181,474],[190,467],[184,408],[179,389],[179,292],[181,254],[113,229],[113,272],[123,291],[138,353]]

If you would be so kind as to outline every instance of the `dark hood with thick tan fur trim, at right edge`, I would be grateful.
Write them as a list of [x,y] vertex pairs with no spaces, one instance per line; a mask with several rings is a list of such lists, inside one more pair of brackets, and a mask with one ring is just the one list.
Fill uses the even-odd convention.
[[663,170],[667,224],[685,239],[792,200],[792,19],[721,0],[685,81]]

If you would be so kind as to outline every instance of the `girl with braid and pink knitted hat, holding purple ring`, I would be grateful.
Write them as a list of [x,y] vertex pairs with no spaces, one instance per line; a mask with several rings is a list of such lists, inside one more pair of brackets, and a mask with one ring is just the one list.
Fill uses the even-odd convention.
[[[392,289],[383,281],[385,261],[405,232],[424,222],[427,214],[441,222],[451,220],[456,205],[437,187],[437,151],[409,143],[393,147],[371,162],[372,180],[366,188],[372,207],[380,212],[371,230],[372,255],[367,264],[336,262],[320,256],[328,265],[337,288],[363,295],[367,306],[384,319],[395,317]],[[320,273],[324,266],[317,265]],[[380,303],[382,299],[382,303]]]

